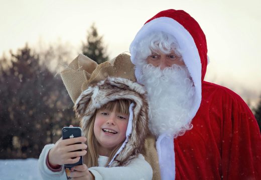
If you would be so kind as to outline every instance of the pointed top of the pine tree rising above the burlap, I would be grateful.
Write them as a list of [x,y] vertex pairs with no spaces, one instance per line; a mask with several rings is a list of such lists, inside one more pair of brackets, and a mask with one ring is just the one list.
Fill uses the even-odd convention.
[[103,45],[102,36],[99,36],[97,28],[93,23],[88,30],[87,43],[82,44],[82,53],[98,64],[108,60],[106,47]]

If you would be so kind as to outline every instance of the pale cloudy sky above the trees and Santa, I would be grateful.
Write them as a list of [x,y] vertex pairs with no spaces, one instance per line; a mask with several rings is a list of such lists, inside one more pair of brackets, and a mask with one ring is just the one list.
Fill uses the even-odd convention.
[[203,29],[208,45],[205,80],[225,85],[245,101],[261,94],[260,0],[0,0],[0,55],[28,42],[69,44],[77,55],[95,22],[111,58],[128,51],[142,25],[161,10],[183,9]]

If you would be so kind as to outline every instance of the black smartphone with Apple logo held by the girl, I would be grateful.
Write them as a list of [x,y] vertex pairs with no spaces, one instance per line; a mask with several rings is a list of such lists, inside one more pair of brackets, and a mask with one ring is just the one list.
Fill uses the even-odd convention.
[[[80,127],[63,127],[62,136],[63,136],[63,139],[80,137],[80,136],[82,136],[82,130]],[[81,142],[78,142],[78,143],[81,143]],[[75,151],[81,151],[81,150],[82,149],[78,149]],[[76,157],[74,157],[74,158],[76,158]],[[75,165],[82,165],[82,163],[83,163],[83,158],[82,158],[82,156],[80,156],[80,160],[78,162],[72,163],[72,164],[64,164],[67,179],[70,179],[71,168],[74,167]]]

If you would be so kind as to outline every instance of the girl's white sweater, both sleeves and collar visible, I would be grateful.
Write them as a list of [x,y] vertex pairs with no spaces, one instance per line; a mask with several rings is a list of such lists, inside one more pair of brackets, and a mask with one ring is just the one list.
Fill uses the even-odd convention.
[[[47,144],[43,148],[39,160],[39,171],[43,179],[66,179],[64,167],[61,171],[53,172],[46,165],[46,158],[49,150],[54,144]],[[89,170],[94,175],[95,180],[99,179],[152,179],[152,168],[144,159],[142,154],[131,160],[126,166],[104,167],[108,160],[106,156],[99,156],[97,167],[90,167]]]

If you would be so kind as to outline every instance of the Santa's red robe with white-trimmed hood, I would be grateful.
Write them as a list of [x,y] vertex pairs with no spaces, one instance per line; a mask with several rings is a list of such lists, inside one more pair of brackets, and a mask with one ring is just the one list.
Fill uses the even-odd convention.
[[[175,179],[260,179],[261,136],[256,119],[235,92],[203,80],[207,44],[197,21],[183,10],[169,9],[156,14],[144,24],[130,46],[134,64],[138,44],[152,31],[164,31],[177,39],[195,86],[190,111],[193,128],[174,138],[172,175]],[[138,77],[142,72],[136,69],[135,73]],[[160,160],[161,168],[163,163]]]

